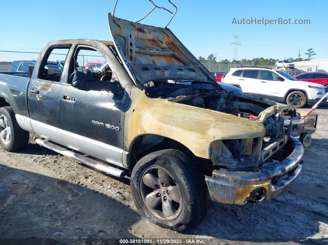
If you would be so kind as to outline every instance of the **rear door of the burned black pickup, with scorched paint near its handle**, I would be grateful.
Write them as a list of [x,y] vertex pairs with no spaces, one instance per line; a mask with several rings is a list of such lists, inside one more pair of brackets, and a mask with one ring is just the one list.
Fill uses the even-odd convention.
[[[50,47],[39,60],[28,87],[28,106],[33,131],[39,136],[63,144],[61,135],[60,100],[61,73],[46,69],[49,61],[65,61],[69,46]],[[39,59],[41,59],[40,57]]]

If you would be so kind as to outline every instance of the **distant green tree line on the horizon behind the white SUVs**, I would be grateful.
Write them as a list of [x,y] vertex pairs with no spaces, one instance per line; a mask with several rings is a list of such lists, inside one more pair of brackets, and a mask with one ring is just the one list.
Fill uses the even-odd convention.
[[[307,56],[307,58],[303,59],[301,57],[299,57],[298,59],[294,59],[294,58],[289,58],[289,59],[286,59],[290,62],[296,62],[296,61],[310,61],[313,56],[317,55],[312,48],[306,50],[307,52],[305,53],[305,55]],[[217,61],[216,60],[216,57],[213,55],[213,54],[210,54],[207,59],[205,59],[205,57],[202,57],[202,56],[199,56],[198,57],[198,60],[200,62],[203,62],[203,63],[220,63],[220,64],[229,64],[229,63],[237,63],[237,64],[253,64],[253,65],[259,65],[259,66],[268,66],[268,65],[275,65],[276,62],[278,61],[278,59],[273,59],[273,58],[270,58],[270,59],[264,59],[263,57],[261,58],[254,58],[252,60],[249,60],[249,59],[241,59],[239,61],[236,61],[236,60],[232,60],[232,61],[229,61],[228,59],[225,59],[225,60],[221,60],[221,61]]]

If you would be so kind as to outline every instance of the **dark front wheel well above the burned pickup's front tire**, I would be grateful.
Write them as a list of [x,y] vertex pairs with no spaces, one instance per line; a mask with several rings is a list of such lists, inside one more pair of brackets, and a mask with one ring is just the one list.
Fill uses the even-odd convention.
[[205,168],[206,166],[213,167],[211,160],[195,156],[190,149],[180,142],[156,134],[143,134],[134,139],[130,147],[128,157],[128,166],[130,170],[132,170],[135,164],[145,155],[163,149],[176,149],[183,152],[196,165],[201,166],[198,168]]

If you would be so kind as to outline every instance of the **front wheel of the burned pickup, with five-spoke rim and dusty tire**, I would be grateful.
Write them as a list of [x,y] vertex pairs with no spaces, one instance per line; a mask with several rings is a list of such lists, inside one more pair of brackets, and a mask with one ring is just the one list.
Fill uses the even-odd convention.
[[183,232],[205,218],[204,182],[179,150],[155,151],[141,158],[133,168],[131,188],[139,213],[161,227]]

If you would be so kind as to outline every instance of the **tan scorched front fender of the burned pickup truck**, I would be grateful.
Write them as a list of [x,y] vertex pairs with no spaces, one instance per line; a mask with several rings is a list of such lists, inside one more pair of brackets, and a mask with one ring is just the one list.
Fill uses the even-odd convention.
[[231,114],[149,98],[132,87],[126,112],[125,140],[131,146],[142,134],[157,134],[180,142],[196,156],[210,159],[211,142],[222,139],[263,137],[265,127]]

